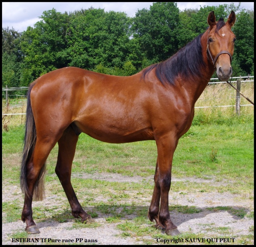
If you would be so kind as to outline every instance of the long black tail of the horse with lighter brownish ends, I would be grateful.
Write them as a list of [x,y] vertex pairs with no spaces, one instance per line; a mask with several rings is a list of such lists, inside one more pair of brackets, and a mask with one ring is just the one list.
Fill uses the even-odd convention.
[[[31,193],[28,190],[27,183],[27,164],[30,161],[32,153],[36,145],[36,125],[34,121],[34,116],[31,108],[30,102],[30,92],[35,85],[36,81],[30,84],[28,90],[28,103],[27,103],[27,112],[26,112],[26,125],[25,125],[25,137],[24,137],[24,148],[22,153],[22,162],[20,169],[20,187],[25,197],[30,197]],[[42,166],[38,179],[34,185],[33,198],[35,201],[41,201],[44,199],[44,175],[46,170],[46,163]]]

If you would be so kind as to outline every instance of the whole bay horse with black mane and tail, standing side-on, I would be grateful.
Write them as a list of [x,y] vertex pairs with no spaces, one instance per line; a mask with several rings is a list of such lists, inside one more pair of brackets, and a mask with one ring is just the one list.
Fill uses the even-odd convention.
[[232,74],[236,40],[227,22],[208,15],[203,34],[164,62],[132,76],[110,76],[67,67],[40,76],[30,84],[22,154],[20,185],[24,193],[22,221],[27,233],[40,233],[32,217],[32,199],[44,196],[45,162],[58,143],[56,174],[66,193],[72,215],[90,222],[70,182],[80,133],[108,143],[155,140],[157,146],[154,191],[148,210],[150,221],[168,235],[178,235],[170,219],[168,194],[172,159],[178,140],[194,118],[196,100],[214,70],[226,81]]

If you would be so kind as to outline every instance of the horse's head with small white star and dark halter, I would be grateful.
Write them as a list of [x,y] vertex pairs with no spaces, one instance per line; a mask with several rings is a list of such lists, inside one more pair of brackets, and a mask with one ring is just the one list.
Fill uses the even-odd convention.
[[206,31],[208,32],[207,55],[214,65],[218,78],[222,81],[227,81],[232,75],[230,63],[232,61],[236,36],[231,31],[231,27],[235,21],[236,14],[234,11],[228,16],[226,23],[222,18],[216,22],[213,11],[208,16],[210,27]]

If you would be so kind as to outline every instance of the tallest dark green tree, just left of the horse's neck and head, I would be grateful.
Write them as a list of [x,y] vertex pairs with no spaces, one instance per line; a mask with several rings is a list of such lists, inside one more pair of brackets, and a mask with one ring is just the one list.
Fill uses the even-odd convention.
[[178,50],[179,9],[175,2],[155,2],[134,17],[134,38],[147,60],[160,62]]

